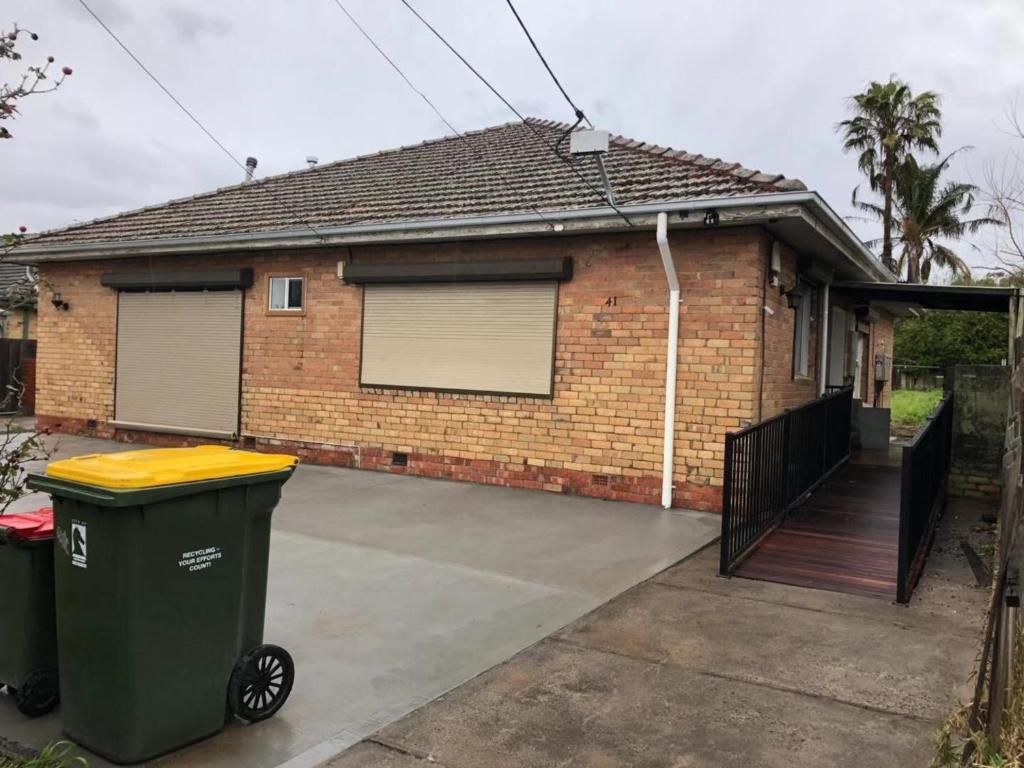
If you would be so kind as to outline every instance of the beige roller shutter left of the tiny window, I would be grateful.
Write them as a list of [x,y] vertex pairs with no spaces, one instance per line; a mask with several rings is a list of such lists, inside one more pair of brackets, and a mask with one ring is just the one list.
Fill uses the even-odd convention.
[[236,436],[242,291],[121,293],[118,426]]

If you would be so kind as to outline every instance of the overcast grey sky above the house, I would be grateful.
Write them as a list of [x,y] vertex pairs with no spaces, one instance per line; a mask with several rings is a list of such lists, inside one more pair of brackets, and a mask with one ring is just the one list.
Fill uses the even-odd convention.
[[[87,0],[146,66],[259,174],[443,135],[445,127],[333,0]],[[398,0],[342,0],[460,130],[513,119]],[[414,5],[520,112],[571,114],[504,0]],[[858,178],[834,126],[844,99],[890,74],[943,97],[954,172],[982,181],[1014,146],[1024,98],[1020,0],[517,0],[573,99],[598,127],[803,179],[841,214]],[[32,230],[241,180],[78,0],[5,0],[12,22],[74,68],[0,142],[0,231]],[[0,79],[13,77],[9,65]],[[1024,104],[1024,100],[1022,100]],[[1017,143],[1021,142],[1019,139]],[[852,222],[863,237],[870,225]],[[972,263],[988,259],[970,249]]]

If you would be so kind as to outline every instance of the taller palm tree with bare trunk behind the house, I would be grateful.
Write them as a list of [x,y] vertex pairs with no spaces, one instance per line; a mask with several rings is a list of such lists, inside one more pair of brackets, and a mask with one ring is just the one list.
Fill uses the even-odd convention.
[[914,150],[939,154],[942,112],[939,96],[925,91],[916,96],[910,86],[890,77],[888,83],[870,83],[863,93],[850,97],[855,113],[836,126],[843,133],[843,152],[858,152],[857,166],[871,189],[882,194],[882,262],[895,271],[892,231],[896,174]]

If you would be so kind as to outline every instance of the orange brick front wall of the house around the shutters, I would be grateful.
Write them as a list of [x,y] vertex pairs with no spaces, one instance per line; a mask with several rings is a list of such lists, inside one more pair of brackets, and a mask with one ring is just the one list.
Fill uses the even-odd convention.
[[[792,382],[793,310],[777,291],[768,291],[776,306],[766,324],[772,373],[763,383],[758,375],[767,247],[757,229],[672,233],[683,294],[677,506],[720,508],[724,434],[758,418],[759,394],[771,408],[813,396],[813,384]],[[553,398],[359,386],[362,290],[338,281],[339,260],[543,256],[571,256],[575,265],[559,292]],[[791,269],[793,262],[791,254]],[[147,263],[154,269],[255,268],[245,304],[243,444],[367,469],[646,503],[659,498],[668,289],[652,232]],[[117,298],[98,275],[131,267],[79,262],[45,269],[72,308],[57,312],[48,297],[40,302],[37,411],[44,424],[114,434],[106,422],[113,418]],[[267,315],[266,275],[297,271],[308,281],[306,313]],[[392,466],[394,452],[408,455],[408,466]]]

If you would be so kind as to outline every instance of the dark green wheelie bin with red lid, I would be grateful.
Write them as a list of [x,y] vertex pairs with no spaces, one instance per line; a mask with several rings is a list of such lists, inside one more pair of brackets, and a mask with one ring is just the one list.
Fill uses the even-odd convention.
[[39,717],[59,698],[52,510],[0,515],[0,685]]

